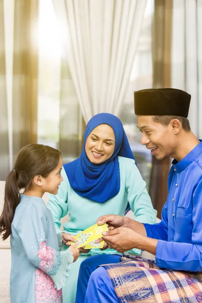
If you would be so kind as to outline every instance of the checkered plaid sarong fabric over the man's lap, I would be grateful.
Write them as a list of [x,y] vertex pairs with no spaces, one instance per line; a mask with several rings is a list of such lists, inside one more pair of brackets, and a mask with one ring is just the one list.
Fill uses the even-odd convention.
[[121,258],[103,265],[121,303],[202,302],[202,273],[160,269],[155,260]]

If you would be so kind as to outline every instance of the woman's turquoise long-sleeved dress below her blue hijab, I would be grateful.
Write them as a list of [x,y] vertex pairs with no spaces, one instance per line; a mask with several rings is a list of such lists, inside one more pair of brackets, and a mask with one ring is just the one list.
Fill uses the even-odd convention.
[[[69,212],[70,221],[63,225],[64,232],[76,235],[87,227],[95,224],[102,215],[114,214],[124,216],[125,209],[129,202],[131,210],[134,213],[134,219],[141,223],[156,223],[157,212],[153,209],[150,197],[145,188],[135,161],[125,157],[118,157],[120,166],[121,188],[119,193],[106,201],[105,203],[96,203],[95,201],[83,198],[78,195],[70,186],[64,168],[62,169],[63,182],[59,187],[57,195],[49,194],[47,207],[51,210],[56,230],[59,238],[60,249],[66,249],[62,242],[61,218]],[[134,254],[140,255],[140,250],[134,249]],[[72,264],[69,271],[69,278],[63,287],[64,303],[74,303],[76,297],[76,285],[78,271],[81,262],[97,254],[116,254],[113,249],[91,249],[89,254],[82,254],[78,260]]]

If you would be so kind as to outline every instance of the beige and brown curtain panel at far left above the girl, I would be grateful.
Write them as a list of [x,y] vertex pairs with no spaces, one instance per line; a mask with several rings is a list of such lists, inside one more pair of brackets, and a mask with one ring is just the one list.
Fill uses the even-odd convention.
[[37,135],[38,0],[0,0],[0,180]]

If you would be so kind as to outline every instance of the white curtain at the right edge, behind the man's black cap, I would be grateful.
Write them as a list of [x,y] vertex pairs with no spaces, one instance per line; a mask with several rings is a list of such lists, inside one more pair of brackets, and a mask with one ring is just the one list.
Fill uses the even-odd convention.
[[191,94],[188,119],[202,138],[202,0],[173,1],[172,87]]

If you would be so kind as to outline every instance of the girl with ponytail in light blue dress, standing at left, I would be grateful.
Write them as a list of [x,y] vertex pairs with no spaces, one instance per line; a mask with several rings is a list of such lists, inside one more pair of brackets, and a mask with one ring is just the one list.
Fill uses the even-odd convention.
[[0,233],[4,240],[11,235],[12,303],[62,303],[69,264],[79,257],[78,243],[59,251],[53,217],[42,200],[44,192],[58,193],[62,165],[58,149],[29,144],[7,177]]

